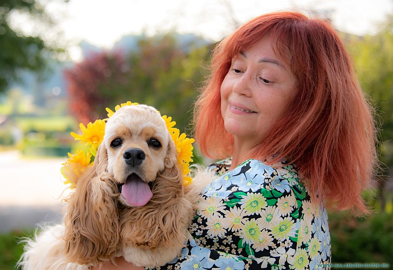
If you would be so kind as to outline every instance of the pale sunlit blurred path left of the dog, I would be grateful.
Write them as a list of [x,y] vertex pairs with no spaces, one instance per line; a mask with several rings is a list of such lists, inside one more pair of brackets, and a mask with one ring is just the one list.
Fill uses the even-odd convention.
[[0,233],[58,221],[65,158],[24,158],[18,151],[0,152]]

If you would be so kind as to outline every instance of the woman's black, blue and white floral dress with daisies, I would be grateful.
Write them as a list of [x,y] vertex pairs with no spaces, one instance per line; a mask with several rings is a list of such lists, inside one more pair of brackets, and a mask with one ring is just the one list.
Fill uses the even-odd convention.
[[330,269],[328,216],[300,182],[296,166],[257,160],[220,175],[198,201],[180,258],[160,269]]

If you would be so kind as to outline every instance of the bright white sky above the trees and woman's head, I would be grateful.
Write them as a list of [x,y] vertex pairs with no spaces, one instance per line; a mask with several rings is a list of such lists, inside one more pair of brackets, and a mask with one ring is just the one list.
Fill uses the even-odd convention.
[[219,41],[236,25],[280,10],[323,12],[339,30],[372,34],[393,13],[393,0],[69,0],[47,10],[78,58],[81,40],[110,49],[124,35],[176,31]]

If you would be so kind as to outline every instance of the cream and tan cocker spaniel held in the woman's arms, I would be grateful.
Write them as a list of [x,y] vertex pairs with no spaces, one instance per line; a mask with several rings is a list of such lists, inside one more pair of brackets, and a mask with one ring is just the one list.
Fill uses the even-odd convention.
[[184,188],[160,113],[146,105],[118,109],[106,123],[93,166],[67,199],[63,222],[25,240],[18,265],[85,270],[117,256],[136,266],[167,264],[185,246],[197,197],[213,181],[201,171]]

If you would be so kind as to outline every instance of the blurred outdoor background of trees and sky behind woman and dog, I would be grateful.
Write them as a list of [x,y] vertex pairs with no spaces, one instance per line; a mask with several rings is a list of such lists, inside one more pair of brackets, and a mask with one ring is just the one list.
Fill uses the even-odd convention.
[[277,10],[332,21],[379,114],[374,213],[330,213],[332,262],[392,266],[393,0],[0,0],[0,269],[15,269],[18,238],[60,220],[60,167],[80,147],[79,123],[131,100],[190,134],[212,48]]

